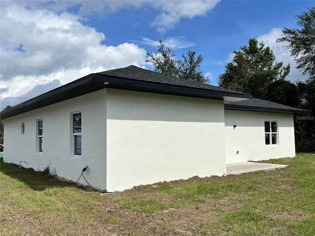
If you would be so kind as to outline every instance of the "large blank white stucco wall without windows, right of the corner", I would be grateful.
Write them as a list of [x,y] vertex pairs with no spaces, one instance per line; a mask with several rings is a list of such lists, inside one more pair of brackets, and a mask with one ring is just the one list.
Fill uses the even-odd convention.
[[107,90],[108,191],[223,174],[223,101]]

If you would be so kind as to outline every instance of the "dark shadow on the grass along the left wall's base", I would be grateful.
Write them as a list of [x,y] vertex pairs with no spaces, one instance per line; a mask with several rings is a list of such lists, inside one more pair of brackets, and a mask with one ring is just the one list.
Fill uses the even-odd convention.
[[35,191],[43,191],[47,188],[54,187],[75,186],[80,188],[75,185],[74,182],[62,181],[56,177],[46,175],[44,172],[34,171],[32,168],[20,168],[19,165],[5,163],[2,158],[0,158],[0,172],[6,176],[24,182]]

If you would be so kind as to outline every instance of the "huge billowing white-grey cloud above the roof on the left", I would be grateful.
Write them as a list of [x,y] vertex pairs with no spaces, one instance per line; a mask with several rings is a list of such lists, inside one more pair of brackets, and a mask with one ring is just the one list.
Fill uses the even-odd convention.
[[1,97],[19,97],[53,80],[66,84],[89,73],[144,63],[144,49],[133,43],[101,44],[105,35],[82,25],[80,16],[22,3],[1,1]]

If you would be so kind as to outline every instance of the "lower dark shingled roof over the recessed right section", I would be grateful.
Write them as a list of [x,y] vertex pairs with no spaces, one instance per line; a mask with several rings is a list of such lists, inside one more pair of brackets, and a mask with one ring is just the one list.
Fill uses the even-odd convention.
[[225,110],[238,110],[238,111],[255,111],[255,112],[273,112],[273,113],[288,113],[288,114],[307,114],[309,111],[285,106],[275,102],[252,98],[250,100],[238,102],[225,102]]

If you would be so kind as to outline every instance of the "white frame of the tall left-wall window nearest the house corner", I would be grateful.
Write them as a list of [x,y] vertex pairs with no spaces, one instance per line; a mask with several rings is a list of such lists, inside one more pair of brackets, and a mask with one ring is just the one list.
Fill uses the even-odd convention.
[[[80,126],[75,126],[74,124],[74,116],[76,114],[80,114]],[[79,121],[78,121],[79,122]],[[77,129],[80,127],[80,129]],[[78,131],[78,132],[76,132]],[[76,112],[72,112],[71,113],[71,139],[72,139],[72,148],[71,148],[71,152],[72,155],[75,157],[81,157],[82,156],[82,112],[81,111],[76,111]],[[79,141],[79,143],[78,143]],[[79,144],[79,147],[78,147]],[[80,152],[78,152],[78,150],[80,150]]]

